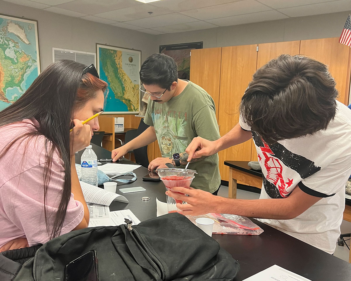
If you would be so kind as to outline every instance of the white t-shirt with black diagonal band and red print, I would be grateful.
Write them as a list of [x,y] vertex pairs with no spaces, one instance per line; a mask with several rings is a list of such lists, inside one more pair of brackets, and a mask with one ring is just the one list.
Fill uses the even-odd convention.
[[[251,130],[241,118],[239,123]],[[334,120],[313,135],[273,145],[254,131],[252,137],[264,176],[260,199],[286,198],[294,188],[322,198],[294,219],[259,220],[332,254],[345,208],[345,182],[351,173],[351,110],[337,102]]]

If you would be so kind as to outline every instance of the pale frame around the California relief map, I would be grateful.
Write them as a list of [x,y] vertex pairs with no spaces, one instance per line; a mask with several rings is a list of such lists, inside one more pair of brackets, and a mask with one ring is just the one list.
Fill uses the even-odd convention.
[[[141,50],[128,49],[128,48],[122,48],[122,47],[117,47],[117,46],[112,46],[112,45],[96,43],[96,69],[98,71],[99,76],[100,76],[99,48],[106,48],[106,49],[117,50],[117,51],[121,51],[121,52],[129,52],[129,53],[134,53],[134,54],[138,55],[138,57],[139,57],[138,74],[139,74],[139,71],[141,68]],[[108,81],[105,81],[105,82],[107,82],[107,84],[109,84],[109,87],[110,87],[110,83]],[[138,82],[139,82],[139,87],[140,87],[139,75],[138,75]],[[138,100],[139,100],[139,103],[138,103],[139,110],[137,110],[137,111],[104,111],[104,112],[102,112],[102,114],[105,114],[105,115],[111,115],[111,114],[132,114],[132,115],[135,115],[135,114],[139,114],[140,109],[141,109],[141,92],[140,91],[139,91],[139,99]]]

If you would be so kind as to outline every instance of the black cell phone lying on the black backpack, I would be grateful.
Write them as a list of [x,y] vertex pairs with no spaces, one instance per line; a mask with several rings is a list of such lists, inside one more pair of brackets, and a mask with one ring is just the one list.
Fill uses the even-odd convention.
[[100,281],[95,250],[68,263],[65,268],[64,281]]

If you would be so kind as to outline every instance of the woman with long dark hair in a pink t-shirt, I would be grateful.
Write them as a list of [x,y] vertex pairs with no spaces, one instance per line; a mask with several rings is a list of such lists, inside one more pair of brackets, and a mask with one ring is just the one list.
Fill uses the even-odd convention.
[[106,88],[93,66],[58,61],[0,112],[0,250],[88,226],[74,153],[99,130],[82,121],[103,110]]

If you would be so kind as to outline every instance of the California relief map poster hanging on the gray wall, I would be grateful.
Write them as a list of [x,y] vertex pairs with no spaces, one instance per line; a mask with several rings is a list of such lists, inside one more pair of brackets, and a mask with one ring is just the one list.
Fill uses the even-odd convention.
[[108,83],[104,113],[139,114],[141,52],[101,44],[96,50],[100,79]]

